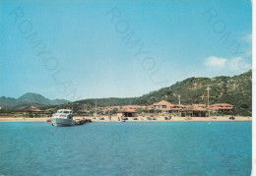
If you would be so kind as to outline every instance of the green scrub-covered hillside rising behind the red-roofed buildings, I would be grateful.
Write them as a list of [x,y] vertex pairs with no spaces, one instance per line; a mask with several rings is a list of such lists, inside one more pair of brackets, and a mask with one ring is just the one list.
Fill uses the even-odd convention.
[[92,109],[97,102],[98,107],[115,105],[150,105],[160,100],[167,100],[171,103],[178,103],[178,94],[181,96],[181,104],[205,103],[207,98],[206,88],[210,86],[210,104],[230,103],[234,105],[234,114],[251,115],[252,113],[252,71],[248,71],[234,77],[216,77],[210,78],[189,78],[182,82],[159,90],[152,91],[140,97],[129,98],[98,98],[84,99],[65,105],[59,105],[56,108],[72,108],[75,111],[82,109]]

